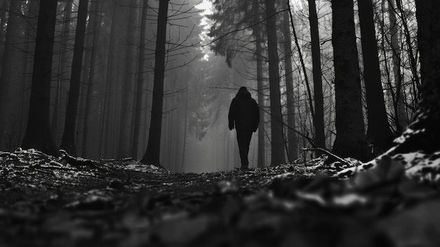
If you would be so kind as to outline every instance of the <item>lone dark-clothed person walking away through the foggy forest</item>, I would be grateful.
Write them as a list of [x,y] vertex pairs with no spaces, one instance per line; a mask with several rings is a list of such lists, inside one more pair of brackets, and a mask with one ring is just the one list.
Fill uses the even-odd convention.
[[240,170],[248,170],[250,140],[252,132],[256,132],[259,125],[259,107],[257,101],[252,99],[246,87],[240,87],[229,107],[229,130],[236,129],[238,149],[240,151]]

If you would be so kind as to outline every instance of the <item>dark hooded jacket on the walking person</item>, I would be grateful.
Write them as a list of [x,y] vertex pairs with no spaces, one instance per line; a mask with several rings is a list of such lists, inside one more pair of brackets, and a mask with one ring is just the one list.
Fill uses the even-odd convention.
[[260,113],[257,102],[251,98],[246,87],[240,87],[229,108],[229,129],[249,129],[256,132]]

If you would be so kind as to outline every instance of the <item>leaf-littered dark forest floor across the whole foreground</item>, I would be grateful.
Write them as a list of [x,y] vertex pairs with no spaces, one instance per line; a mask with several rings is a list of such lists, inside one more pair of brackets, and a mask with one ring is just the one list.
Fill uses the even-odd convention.
[[0,246],[440,246],[436,189],[323,167],[177,174],[0,152]]

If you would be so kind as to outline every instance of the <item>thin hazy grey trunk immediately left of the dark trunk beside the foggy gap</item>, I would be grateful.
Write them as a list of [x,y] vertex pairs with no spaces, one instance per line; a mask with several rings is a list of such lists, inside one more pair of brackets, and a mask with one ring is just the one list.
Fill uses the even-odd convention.
[[136,105],[134,113],[134,132],[131,156],[138,158],[138,150],[141,145],[141,122],[143,112],[143,89],[145,86],[145,32],[147,27],[148,0],[143,0],[141,13],[141,31],[139,34],[139,60],[138,60],[138,82],[136,89]]

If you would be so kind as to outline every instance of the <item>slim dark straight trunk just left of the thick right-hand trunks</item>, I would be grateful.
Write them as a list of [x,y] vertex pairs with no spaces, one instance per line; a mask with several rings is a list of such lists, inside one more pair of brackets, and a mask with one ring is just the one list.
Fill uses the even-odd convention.
[[[311,37],[311,60],[313,65],[313,94],[315,96],[315,145],[325,148],[324,134],[324,96],[321,74],[321,48],[319,45],[318,15],[315,0],[309,0],[309,23]],[[316,156],[321,156],[321,151]]]

